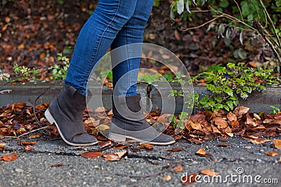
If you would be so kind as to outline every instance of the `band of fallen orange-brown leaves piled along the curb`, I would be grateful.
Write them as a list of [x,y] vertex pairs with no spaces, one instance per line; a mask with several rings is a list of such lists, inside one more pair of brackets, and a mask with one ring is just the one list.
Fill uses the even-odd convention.
[[[58,130],[55,125],[48,123],[44,116],[44,111],[48,108],[48,103],[37,106],[29,106],[25,103],[8,104],[0,108],[0,135],[4,137],[22,137],[28,135],[29,138],[36,138],[42,135],[58,137]],[[98,107],[95,111],[85,109],[84,126],[87,132],[98,137],[99,140],[106,141],[103,136],[109,130],[109,123],[113,116],[112,110],[107,111],[104,107]],[[257,144],[262,141],[260,137],[280,137],[281,136],[281,112],[275,115],[266,113],[249,113],[249,108],[238,106],[233,112],[226,113],[222,110],[210,113],[198,112],[183,120],[184,128],[178,131],[174,129],[174,124],[164,114],[159,116],[157,112],[150,112],[147,116],[148,122],[162,121],[166,128],[165,134],[173,136],[175,139],[188,139],[192,142],[200,143],[202,140],[212,139],[214,136],[233,137],[241,136],[251,139]],[[176,121],[174,122],[176,123]]]

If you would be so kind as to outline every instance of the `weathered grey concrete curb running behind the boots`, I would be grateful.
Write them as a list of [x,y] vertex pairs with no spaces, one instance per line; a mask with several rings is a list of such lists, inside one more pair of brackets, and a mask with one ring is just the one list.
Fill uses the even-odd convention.
[[[159,83],[157,83],[159,84]],[[34,103],[37,99],[37,104],[44,102],[51,102],[56,95],[60,92],[60,88],[63,86],[61,81],[52,81],[52,82],[30,82],[30,83],[17,83],[16,85],[4,85],[1,90],[11,90],[11,92],[4,92],[0,94],[0,106],[5,106],[6,104],[16,103],[16,102],[30,102]],[[95,85],[92,85],[91,90],[100,90],[100,87],[95,88]],[[176,90],[180,90],[177,84],[171,83],[171,87]],[[194,91],[203,97],[204,95],[211,95],[206,88],[202,86],[194,85]],[[0,90],[0,91],[1,91]],[[103,87],[103,105],[107,109],[112,108],[111,104],[111,95],[112,88]],[[145,83],[138,84],[138,92],[142,97],[148,96],[151,99],[151,103],[147,102],[146,105],[148,108],[152,107],[153,110],[156,108],[162,110],[162,99],[159,95],[159,92],[162,93],[162,97],[167,97],[170,94],[169,90],[166,88],[157,86],[157,89],[154,86],[150,86]],[[42,95],[44,93],[44,95]],[[94,97],[93,93],[93,97]],[[176,111],[181,111],[183,99],[181,97],[176,97]],[[152,104],[152,106],[149,106]],[[270,106],[276,106],[281,108],[281,87],[268,87],[266,92],[253,92],[247,100],[239,99],[240,106],[247,106],[250,108],[250,112],[259,113],[265,111],[270,113],[272,109]],[[165,112],[169,112],[169,109],[166,109]]]

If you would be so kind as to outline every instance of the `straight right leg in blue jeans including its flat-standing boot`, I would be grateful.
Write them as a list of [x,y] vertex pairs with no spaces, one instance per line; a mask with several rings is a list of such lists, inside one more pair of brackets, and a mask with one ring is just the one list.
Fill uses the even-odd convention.
[[[152,4],[152,0],[138,0],[133,16],[118,33],[117,38],[112,43],[112,49],[131,43],[143,42],[143,29],[149,18]],[[143,116],[140,104],[141,96],[136,94],[141,45],[129,45],[126,48],[122,47],[122,49],[125,52],[121,51],[121,54],[125,53],[129,60],[117,64],[120,53],[113,53],[112,55],[113,83],[115,85],[112,102],[114,117],[110,125],[109,138],[114,141],[135,139],[150,144],[173,144],[174,138],[157,132]],[[134,58],[130,59],[130,57]],[[117,66],[115,66],[116,64]]]

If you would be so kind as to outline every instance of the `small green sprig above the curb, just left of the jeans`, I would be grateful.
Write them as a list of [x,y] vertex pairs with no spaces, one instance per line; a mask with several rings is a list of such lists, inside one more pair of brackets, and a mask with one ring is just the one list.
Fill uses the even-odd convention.
[[70,66],[70,59],[63,55],[63,53],[58,53],[58,61],[62,62],[62,65],[55,64],[49,69],[52,71],[53,76],[51,80],[63,80],[66,77],[67,69]]

